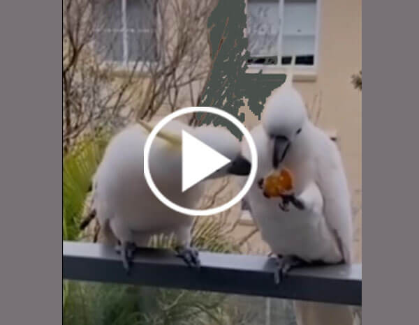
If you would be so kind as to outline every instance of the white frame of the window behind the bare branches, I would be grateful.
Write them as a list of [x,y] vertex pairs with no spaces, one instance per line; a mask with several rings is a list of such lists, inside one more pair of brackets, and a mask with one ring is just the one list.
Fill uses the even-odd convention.
[[[126,22],[126,1],[127,0],[117,0],[121,1],[121,20],[122,20],[122,29],[101,29],[101,30],[95,30],[95,31],[114,31],[118,33],[122,33],[122,51],[123,51],[123,60],[122,61],[115,61],[115,60],[105,60],[103,61],[103,65],[112,64],[116,67],[116,72],[122,72],[125,73],[127,71],[131,71],[135,65],[135,61],[128,61],[128,32],[136,31],[136,32],[150,32],[151,29],[128,29],[127,22]],[[154,0],[158,1],[158,0]],[[140,71],[142,70],[142,67],[147,66],[153,66],[157,64],[157,60],[159,59],[159,53],[161,53],[161,48],[159,47],[159,27],[161,26],[161,15],[159,6],[156,6],[156,51],[158,53],[156,61],[138,61],[136,70]],[[95,41],[93,41],[94,43]],[[145,71],[146,72],[146,71]]]

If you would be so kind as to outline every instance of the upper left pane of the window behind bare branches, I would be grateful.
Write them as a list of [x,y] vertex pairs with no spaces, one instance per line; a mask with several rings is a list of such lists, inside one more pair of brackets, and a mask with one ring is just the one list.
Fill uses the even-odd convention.
[[121,0],[94,0],[92,3],[96,29],[122,29]]

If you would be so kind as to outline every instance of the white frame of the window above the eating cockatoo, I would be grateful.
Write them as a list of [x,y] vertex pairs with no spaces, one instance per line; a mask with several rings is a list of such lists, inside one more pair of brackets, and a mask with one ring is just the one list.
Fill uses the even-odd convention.
[[[249,63],[246,73],[259,73],[260,70],[262,73],[266,74],[277,74],[277,73],[286,73],[289,65],[282,65],[281,63],[281,43],[283,39],[282,31],[283,22],[284,22],[284,1],[277,0],[279,2],[279,19],[281,20],[281,28],[279,29],[278,37],[278,59],[277,64],[260,64],[260,63]],[[246,0],[245,13],[247,17],[247,3],[249,0]],[[312,66],[294,66],[293,69],[293,80],[294,81],[315,81],[317,78],[318,71],[318,45],[320,43],[320,25],[321,25],[321,0],[316,0],[316,31],[314,38],[314,64]],[[244,30],[244,36],[248,37],[247,28]]]

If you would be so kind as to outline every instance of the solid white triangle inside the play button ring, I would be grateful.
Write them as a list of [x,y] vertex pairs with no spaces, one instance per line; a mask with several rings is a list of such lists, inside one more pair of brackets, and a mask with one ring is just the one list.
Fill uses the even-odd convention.
[[228,162],[230,159],[182,130],[182,192]]

